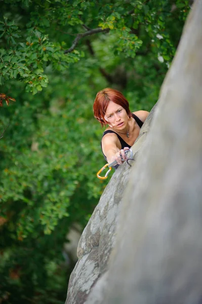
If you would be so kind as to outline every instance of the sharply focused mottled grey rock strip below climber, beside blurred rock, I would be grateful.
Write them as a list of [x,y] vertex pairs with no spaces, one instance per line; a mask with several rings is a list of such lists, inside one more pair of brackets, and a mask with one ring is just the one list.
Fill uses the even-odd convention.
[[[133,146],[133,167],[150,128],[154,108]],[[130,171],[130,167],[123,164],[114,172],[80,238],[77,248],[79,260],[69,280],[65,304],[94,304],[103,299],[102,290],[106,284],[108,260],[115,242],[119,205]]]

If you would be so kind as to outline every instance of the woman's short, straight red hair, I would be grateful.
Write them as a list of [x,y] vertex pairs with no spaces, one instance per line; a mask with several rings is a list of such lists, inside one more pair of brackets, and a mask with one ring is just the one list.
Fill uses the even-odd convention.
[[93,104],[94,117],[101,123],[102,127],[108,124],[104,117],[109,101],[122,106],[126,110],[128,117],[132,117],[129,102],[124,95],[115,89],[106,88],[97,93]]

